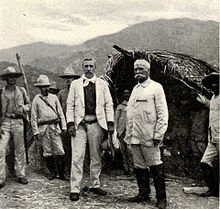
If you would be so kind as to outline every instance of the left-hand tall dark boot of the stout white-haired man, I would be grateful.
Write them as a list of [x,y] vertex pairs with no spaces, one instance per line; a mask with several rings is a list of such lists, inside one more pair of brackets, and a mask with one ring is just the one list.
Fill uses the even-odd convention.
[[128,199],[129,202],[147,202],[149,201],[150,178],[148,169],[135,168],[137,184],[139,193],[138,195]]

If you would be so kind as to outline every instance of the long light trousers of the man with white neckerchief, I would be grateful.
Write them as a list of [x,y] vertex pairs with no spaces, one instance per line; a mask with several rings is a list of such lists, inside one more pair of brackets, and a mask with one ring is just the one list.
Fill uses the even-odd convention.
[[72,193],[79,193],[83,177],[83,162],[85,157],[86,142],[88,140],[90,153],[90,188],[100,187],[101,174],[101,142],[104,130],[98,122],[79,124],[76,136],[71,138],[72,165],[70,187]]

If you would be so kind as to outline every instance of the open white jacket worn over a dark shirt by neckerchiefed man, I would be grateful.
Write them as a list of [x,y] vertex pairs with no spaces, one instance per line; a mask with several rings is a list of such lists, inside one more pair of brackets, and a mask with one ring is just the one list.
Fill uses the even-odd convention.
[[[108,85],[100,78],[95,80],[96,117],[99,125],[107,130],[107,122],[114,121],[114,110]],[[72,81],[67,98],[67,123],[74,122],[77,128],[85,117],[85,98],[83,78]]]

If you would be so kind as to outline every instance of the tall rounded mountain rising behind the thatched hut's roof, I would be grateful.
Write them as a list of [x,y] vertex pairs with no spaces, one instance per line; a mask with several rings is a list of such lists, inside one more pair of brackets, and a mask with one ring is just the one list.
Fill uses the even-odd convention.
[[148,21],[89,40],[84,47],[111,48],[114,44],[131,49],[184,53],[214,62],[219,57],[219,23],[187,18]]

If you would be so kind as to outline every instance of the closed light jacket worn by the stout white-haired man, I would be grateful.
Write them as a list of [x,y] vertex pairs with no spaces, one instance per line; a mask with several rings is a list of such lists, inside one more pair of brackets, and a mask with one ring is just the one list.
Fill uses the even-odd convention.
[[168,108],[163,87],[151,80],[134,87],[127,106],[129,144],[153,146],[153,139],[163,140],[168,126]]

